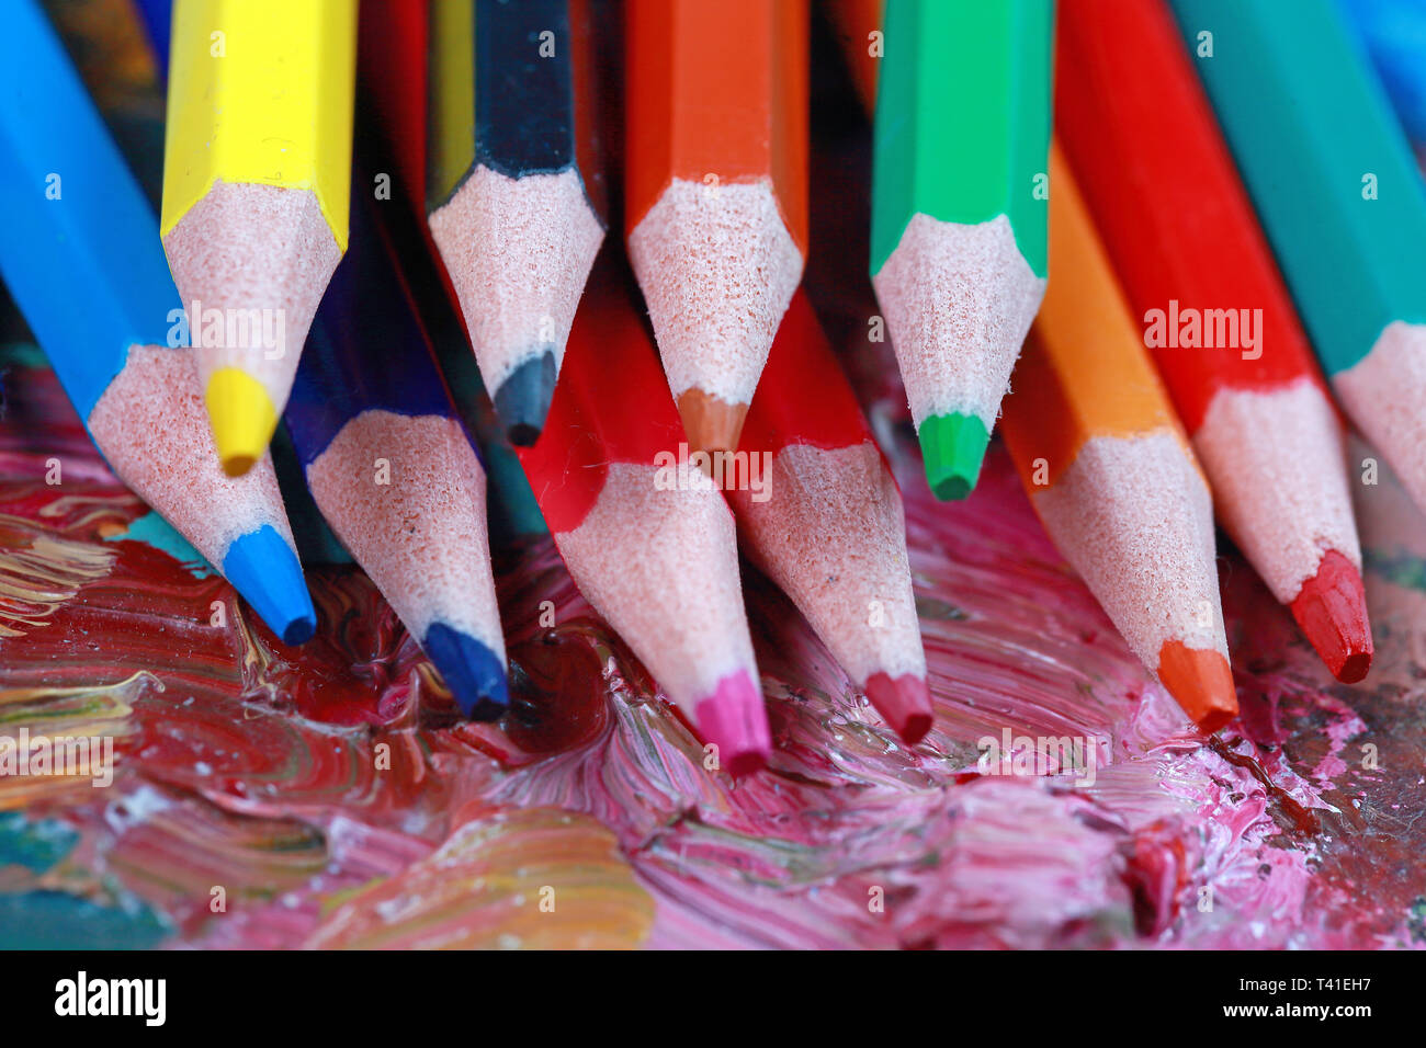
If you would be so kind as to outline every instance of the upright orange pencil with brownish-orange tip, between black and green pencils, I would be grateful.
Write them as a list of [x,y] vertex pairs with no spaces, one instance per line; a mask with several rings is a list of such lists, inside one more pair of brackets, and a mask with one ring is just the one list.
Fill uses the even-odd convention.
[[626,235],[694,449],[733,451],[807,257],[806,0],[629,0]]

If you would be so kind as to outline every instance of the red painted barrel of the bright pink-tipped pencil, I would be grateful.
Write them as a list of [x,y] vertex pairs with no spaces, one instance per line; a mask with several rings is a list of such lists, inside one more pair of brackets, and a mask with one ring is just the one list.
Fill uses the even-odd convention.
[[[516,449],[545,523],[570,532],[593,509],[610,462],[655,465],[686,443],[632,275],[605,244],[569,332],[555,399],[533,448]],[[652,476],[650,476],[652,479]]]

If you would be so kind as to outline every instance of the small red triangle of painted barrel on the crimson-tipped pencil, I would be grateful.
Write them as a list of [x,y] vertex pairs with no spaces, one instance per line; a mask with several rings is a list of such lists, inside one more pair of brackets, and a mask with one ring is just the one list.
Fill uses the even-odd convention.
[[776,453],[790,443],[833,451],[870,439],[851,384],[799,289],[767,354],[739,451]]

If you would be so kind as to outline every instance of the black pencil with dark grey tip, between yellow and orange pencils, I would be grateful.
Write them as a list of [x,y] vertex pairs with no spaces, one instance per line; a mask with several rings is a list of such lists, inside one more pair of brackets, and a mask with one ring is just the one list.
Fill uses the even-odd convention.
[[586,0],[431,6],[426,208],[495,409],[539,436],[605,237]]

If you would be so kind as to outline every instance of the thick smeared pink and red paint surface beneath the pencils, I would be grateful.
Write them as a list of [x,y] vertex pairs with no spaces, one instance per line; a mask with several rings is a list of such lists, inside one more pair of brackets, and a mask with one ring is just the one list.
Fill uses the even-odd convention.
[[[1225,559],[1243,711],[1206,746],[1055,555],[1004,452],[968,503],[938,505],[893,421],[904,408],[878,396],[934,727],[904,749],[752,576],[776,749],[734,784],[704,771],[548,540],[496,553],[511,711],[461,723],[359,572],[315,570],[318,636],[282,646],[222,579],[133,530],[144,508],[48,372],[3,382],[0,555],[48,542],[87,569],[43,625],[0,637],[0,736],[94,731],[116,750],[110,788],[0,777],[3,945],[1426,941],[1426,529],[1389,476],[1358,486],[1368,684],[1333,684]],[[63,488],[43,482],[54,453]],[[1089,740],[1094,783],[985,774],[977,740],[1005,729]]]

